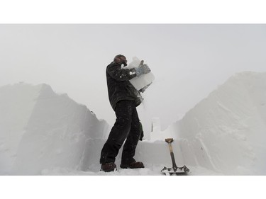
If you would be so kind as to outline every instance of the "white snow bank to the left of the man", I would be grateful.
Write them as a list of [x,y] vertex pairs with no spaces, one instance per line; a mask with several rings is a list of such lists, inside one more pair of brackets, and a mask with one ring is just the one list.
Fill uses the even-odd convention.
[[46,84],[0,87],[0,174],[84,169],[94,161],[109,125]]

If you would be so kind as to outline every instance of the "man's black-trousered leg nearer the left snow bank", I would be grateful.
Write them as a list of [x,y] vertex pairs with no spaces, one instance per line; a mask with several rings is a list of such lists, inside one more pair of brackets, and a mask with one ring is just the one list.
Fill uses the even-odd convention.
[[116,123],[113,125],[109,137],[101,150],[101,164],[115,162],[119,149],[131,130],[133,108],[135,108],[134,101],[119,101],[117,103]]

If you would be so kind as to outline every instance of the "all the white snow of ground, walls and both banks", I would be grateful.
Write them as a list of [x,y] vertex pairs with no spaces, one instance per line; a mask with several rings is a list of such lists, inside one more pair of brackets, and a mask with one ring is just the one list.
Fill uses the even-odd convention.
[[154,118],[135,154],[145,169],[120,169],[120,152],[118,171],[104,173],[99,156],[111,125],[47,84],[1,86],[0,175],[159,176],[172,167],[167,137],[189,175],[265,175],[265,91],[266,73],[231,76],[167,130]]

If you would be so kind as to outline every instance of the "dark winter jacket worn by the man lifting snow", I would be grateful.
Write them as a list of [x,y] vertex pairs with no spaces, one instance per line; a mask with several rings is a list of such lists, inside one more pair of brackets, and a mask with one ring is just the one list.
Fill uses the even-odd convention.
[[128,81],[135,76],[137,76],[135,69],[122,69],[121,64],[117,62],[111,62],[106,67],[109,101],[113,110],[116,110],[116,103],[122,100],[133,100],[135,106],[140,105],[142,101],[140,93]]

